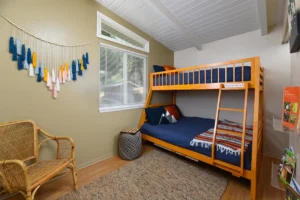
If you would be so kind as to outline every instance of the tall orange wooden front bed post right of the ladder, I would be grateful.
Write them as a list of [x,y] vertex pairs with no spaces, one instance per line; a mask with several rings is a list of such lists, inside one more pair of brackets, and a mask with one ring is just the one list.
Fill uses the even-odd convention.
[[252,63],[252,70],[254,70],[255,76],[252,77],[255,80],[254,89],[254,115],[253,115],[253,139],[252,139],[252,162],[251,162],[251,199],[256,199],[257,188],[257,151],[258,151],[258,122],[259,122],[259,95],[260,95],[260,58],[255,57]]

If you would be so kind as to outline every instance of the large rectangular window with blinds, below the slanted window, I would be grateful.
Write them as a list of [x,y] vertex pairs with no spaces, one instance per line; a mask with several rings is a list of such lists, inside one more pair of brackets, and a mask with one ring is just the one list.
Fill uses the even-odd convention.
[[100,45],[100,112],[142,108],[147,57]]

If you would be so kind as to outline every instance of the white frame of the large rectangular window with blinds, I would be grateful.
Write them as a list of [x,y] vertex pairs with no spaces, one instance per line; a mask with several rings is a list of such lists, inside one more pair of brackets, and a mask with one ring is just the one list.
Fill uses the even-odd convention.
[[[116,49],[118,51],[122,51],[123,53],[125,53],[126,55],[134,55],[134,56],[137,56],[137,57],[141,57],[144,59],[144,88],[145,88],[145,92],[144,92],[144,102],[143,103],[136,103],[136,104],[131,104],[131,105],[121,105],[121,106],[109,106],[109,107],[101,107],[101,98],[100,98],[100,94],[101,94],[101,82],[99,80],[99,112],[100,113],[105,113],[105,112],[114,112],[114,111],[122,111],[122,110],[130,110],[130,109],[137,109],[137,108],[144,108],[144,105],[145,105],[145,101],[146,101],[146,97],[147,97],[147,94],[148,94],[148,56],[146,55],[143,55],[143,54],[139,54],[139,53],[136,53],[136,52],[133,52],[133,51],[129,51],[129,50],[126,50],[126,49],[122,49],[122,48],[118,48],[118,47],[115,47],[115,46],[112,46],[112,45],[109,45],[109,44],[105,44],[105,43],[100,43],[99,45],[99,54],[101,53],[100,51],[100,48],[101,47],[108,47],[108,48],[111,48],[111,49]],[[99,58],[101,59],[101,56],[99,56]],[[126,73],[123,74],[123,77],[127,76],[127,56],[124,56],[123,57],[124,59],[124,68],[123,68],[123,71],[126,71]],[[126,61],[126,62],[125,62]],[[101,61],[100,61],[101,62]],[[100,65],[99,65],[99,77],[100,77]],[[127,93],[126,91],[124,90],[124,95],[126,96]],[[125,99],[127,99],[125,97]]]

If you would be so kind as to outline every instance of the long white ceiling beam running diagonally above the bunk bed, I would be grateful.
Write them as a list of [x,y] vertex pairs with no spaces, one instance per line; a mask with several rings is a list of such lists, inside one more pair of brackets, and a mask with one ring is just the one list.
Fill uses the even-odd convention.
[[178,31],[181,36],[188,40],[188,42],[198,49],[202,50],[202,42],[199,38],[195,37],[185,26],[163,5],[160,0],[143,0],[153,10],[155,10],[161,17],[163,17],[172,28]]

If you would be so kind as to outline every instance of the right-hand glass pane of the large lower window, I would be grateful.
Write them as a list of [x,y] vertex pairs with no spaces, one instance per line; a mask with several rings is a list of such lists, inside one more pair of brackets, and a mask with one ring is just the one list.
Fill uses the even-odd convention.
[[127,56],[127,102],[144,103],[144,60],[133,55]]

